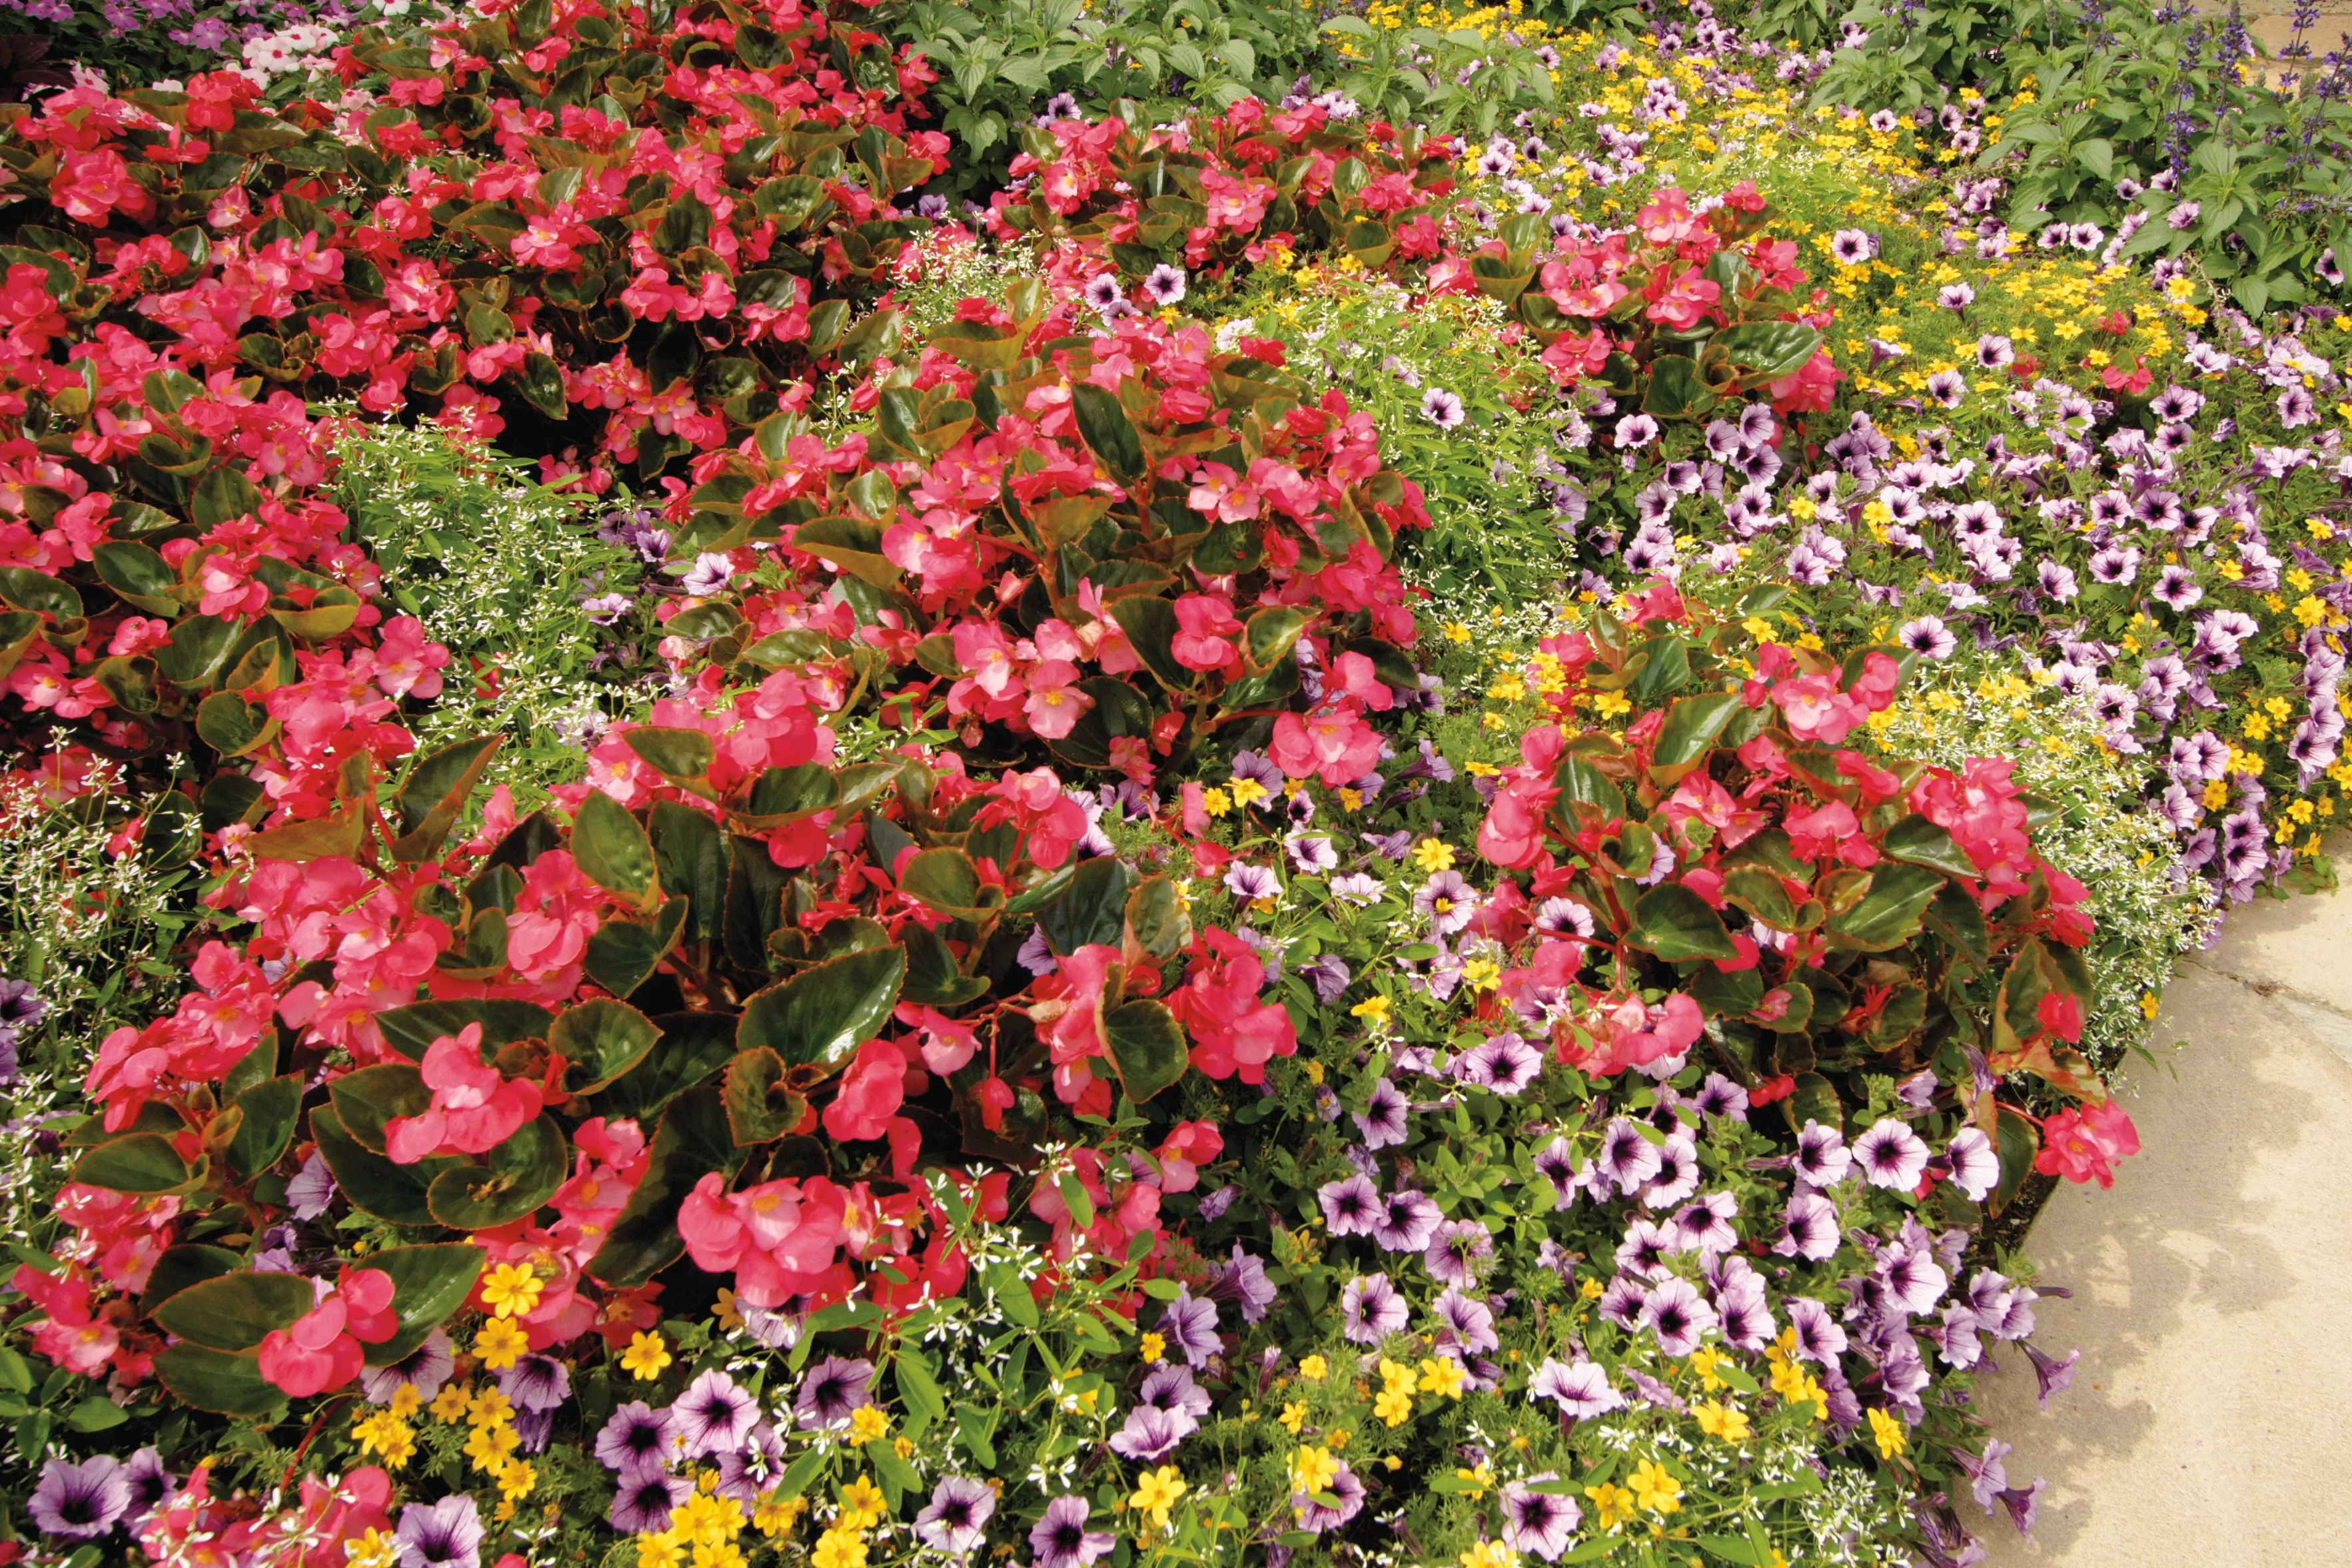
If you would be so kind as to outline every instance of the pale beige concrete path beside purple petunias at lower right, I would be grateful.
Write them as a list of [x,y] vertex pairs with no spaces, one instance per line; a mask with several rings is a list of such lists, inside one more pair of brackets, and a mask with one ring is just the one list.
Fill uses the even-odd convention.
[[[2352,844],[2336,863],[2352,884]],[[1990,1568],[2352,1566],[2352,886],[2239,910],[2164,997],[2114,1190],[2051,1197],[2027,1253],[2082,1347],[2044,1415],[2025,1356],[1983,1410],[2013,1486],[2049,1476]],[[1962,1497],[1971,1523],[1980,1519]]]

